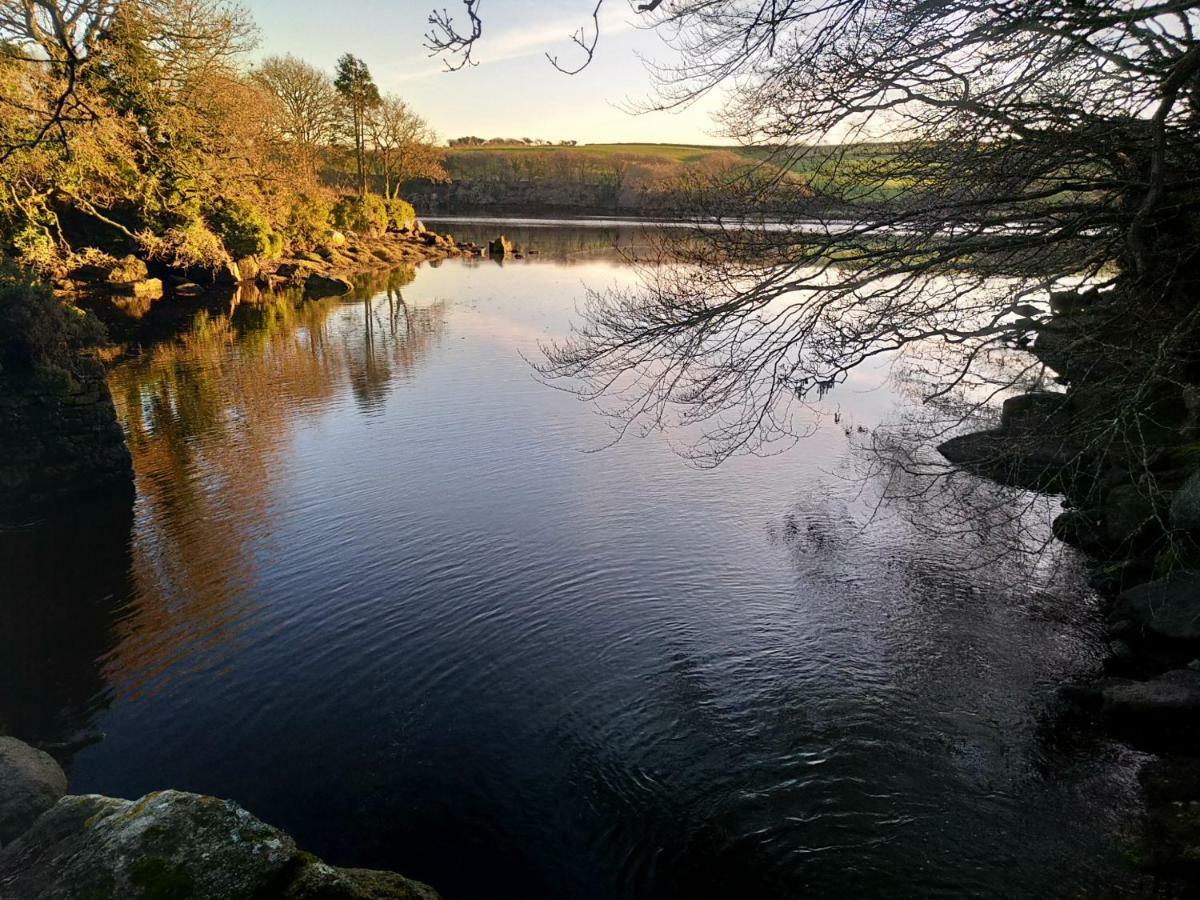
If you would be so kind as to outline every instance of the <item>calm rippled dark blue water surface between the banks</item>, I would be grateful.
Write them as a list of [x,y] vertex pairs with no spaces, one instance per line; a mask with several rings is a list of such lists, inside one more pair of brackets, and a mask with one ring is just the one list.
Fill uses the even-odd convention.
[[780,456],[589,452],[523,354],[636,235],[514,236],[542,254],[118,322],[137,500],[0,535],[0,719],[102,733],[77,792],[233,797],[448,900],[1115,877],[1134,761],[1048,715],[1098,662],[1072,558],[872,517],[844,427],[907,402],[878,373]]

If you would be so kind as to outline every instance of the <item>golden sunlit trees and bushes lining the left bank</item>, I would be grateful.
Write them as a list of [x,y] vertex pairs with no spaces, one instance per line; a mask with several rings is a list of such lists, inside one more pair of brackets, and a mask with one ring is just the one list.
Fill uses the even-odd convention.
[[0,256],[46,277],[103,280],[127,254],[156,275],[232,271],[335,229],[412,224],[400,184],[445,178],[428,126],[362,60],[343,56],[336,80],[292,56],[251,66],[234,2],[64,19],[0,17]]

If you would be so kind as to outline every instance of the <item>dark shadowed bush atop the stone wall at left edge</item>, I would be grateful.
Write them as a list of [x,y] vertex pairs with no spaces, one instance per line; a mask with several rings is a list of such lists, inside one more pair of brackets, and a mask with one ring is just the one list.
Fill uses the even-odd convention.
[[0,371],[70,368],[74,352],[103,340],[94,316],[60,301],[28,270],[0,266]]

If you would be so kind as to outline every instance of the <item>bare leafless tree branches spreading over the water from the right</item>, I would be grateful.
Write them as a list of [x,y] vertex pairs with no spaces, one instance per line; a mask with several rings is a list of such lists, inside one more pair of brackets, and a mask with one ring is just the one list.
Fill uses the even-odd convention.
[[[942,395],[1032,340],[1050,290],[1080,282],[1136,295],[1142,328],[1169,323],[1147,349],[1190,334],[1194,1],[653,6],[670,61],[650,66],[648,106],[720,88],[730,137],[793,175],[697,185],[706,227],[674,264],[594,296],[548,348],[545,373],[620,421],[703,424],[719,460],[790,433],[790,398],[931,344],[953,350],[929,383]],[[754,211],[811,224],[760,227]]]

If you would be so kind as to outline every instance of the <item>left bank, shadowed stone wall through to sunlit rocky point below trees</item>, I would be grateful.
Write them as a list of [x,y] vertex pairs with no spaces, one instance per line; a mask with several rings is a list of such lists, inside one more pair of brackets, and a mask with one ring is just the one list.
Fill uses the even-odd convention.
[[[356,276],[481,256],[419,221],[380,233],[332,232],[316,250],[227,258],[216,268],[168,265],[100,251],[73,254],[49,282],[12,270],[0,295],[0,511],[101,491],[132,494],[133,468],[98,356],[103,329],[80,305],[104,298],[134,317],[163,298],[299,289],[342,296]],[[53,286],[54,295],[50,293]]]

